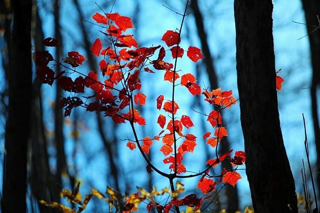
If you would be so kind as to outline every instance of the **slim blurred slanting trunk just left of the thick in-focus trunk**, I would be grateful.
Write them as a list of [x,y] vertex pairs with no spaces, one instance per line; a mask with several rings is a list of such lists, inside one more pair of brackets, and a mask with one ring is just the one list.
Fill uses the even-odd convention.
[[[204,64],[207,68],[207,73],[209,76],[210,86],[212,89],[217,89],[218,86],[218,77],[216,75],[216,70],[214,68],[214,60],[210,53],[210,48],[207,42],[207,34],[204,29],[202,14],[198,7],[197,0],[191,1],[191,7],[193,9],[193,14],[195,18],[195,23],[198,31],[198,36],[201,42],[202,53],[205,56]],[[226,139],[223,143],[220,144],[220,152],[225,153],[230,150],[229,141]],[[223,161],[222,166],[227,167],[230,165],[230,162]],[[238,199],[238,190],[237,187],[233,187],[230,184],[225,186],[225,195],[227,197],[227,212],[234,213],[239,210],[239,199]]]

